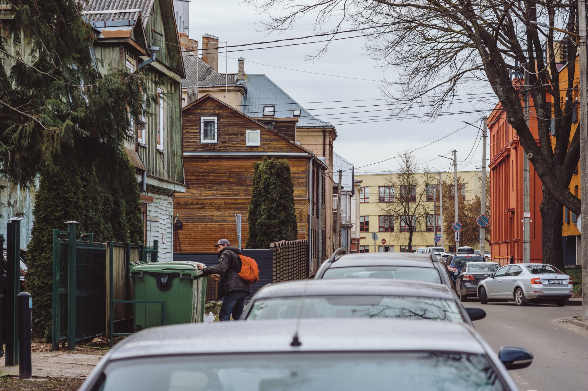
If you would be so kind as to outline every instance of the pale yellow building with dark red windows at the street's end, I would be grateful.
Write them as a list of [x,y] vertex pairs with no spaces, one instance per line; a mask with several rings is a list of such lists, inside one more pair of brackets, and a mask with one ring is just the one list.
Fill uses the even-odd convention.
[[[422,179],[419,179],[419,183],[425,183],[425,175],[422,175]],[[470,201],[475,198],[476,195],[482,194],[482,173],[479,171],[461,171],[457,172],[457,176],[462,178],[462,183],[465,184],[465,188],[460,190],[462,196],[465,196],[466,201]],[[389,196],[389,191],[386,191],[386,187],[391,182],[396,182],[394,179],[395,174],[382,173],[373,175],[356,175],[355,179],[361,182],[361,192],[359,194],[360,200],[360,212],[359,212],[359,235],[360,235],[360,252],[409,252],[410,250],[415,251],[419,247],[430,247],[439,246],[434,241],[435,233],[432,225],[432,216],[428,222],[425,219],[421,219],[417,222],[417,232],[413,233],[412,249],[408,249],[408,238],[409,233],[403,232],[400,222],[396,221],[395,224],[390,225],[390,228],[386,227],[385,219],[382,219],[385,215],[382,208],[385,208],[386,196]],[[430,173],[429,177],[437,185],[439,182],[437,173]],[[442,172],[441,181],[453,183],[453,172]],[[417,195],[423,194],[424,188],[417,188]],[[399,189],[394,189],[394,194],[398,195]],[[425,198],[423,198],[425,199]],[[427,197],[423,202],[426,208],[429,208],[430,214],[433,215],[433,197]],[[439,202],[437,200],[437,210],[439,210]],[[489,209],[487,209],[489,210]],[[449,216],[446,213],[443,215],[443,219],[453,220],[453,215]],[[367,224],[366,224],[367,223]],[[440,227],[443,226],[442,221],[439,219],[437,233],[440,235]],[[374,240],[372,239],[372,233],[375,232],[377,240],[374,248]],[[453,251],[453,231],[444,232],[444,247],[446,251]],[[385,243],[382,243],[382,239]],[[486,242],[486,249],[489,248],[488,242]],[[479,249],[479,245],[474,246],[474,249]]]

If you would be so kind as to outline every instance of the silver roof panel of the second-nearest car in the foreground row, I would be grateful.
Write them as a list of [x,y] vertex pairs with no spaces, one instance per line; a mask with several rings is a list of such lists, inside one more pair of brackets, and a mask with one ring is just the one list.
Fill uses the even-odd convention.
[[328,295],[417,296],[455,299],[446,285],[432,282],[383,278],[299,280],[266,285],[255,299]]

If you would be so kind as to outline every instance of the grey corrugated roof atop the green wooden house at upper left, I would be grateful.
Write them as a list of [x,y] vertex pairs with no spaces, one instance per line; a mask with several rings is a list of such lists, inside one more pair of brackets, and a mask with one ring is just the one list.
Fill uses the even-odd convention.
[[[149,13],[155,0],[87,0],[85,11],[117,11],[141,9],[143,26],[147,25]],[[91,21],[129,21],[139,19],[139,12],[105,12],[103,14],[85,14]]]

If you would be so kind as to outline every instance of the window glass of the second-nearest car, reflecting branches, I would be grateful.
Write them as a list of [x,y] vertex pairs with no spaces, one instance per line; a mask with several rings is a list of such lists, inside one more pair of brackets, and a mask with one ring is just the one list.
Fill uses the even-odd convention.
[[247,319],[298,317],[427,319],[464,322],[455,300],[413,296],[306,296],[305,298],[259,299],[253,303]]

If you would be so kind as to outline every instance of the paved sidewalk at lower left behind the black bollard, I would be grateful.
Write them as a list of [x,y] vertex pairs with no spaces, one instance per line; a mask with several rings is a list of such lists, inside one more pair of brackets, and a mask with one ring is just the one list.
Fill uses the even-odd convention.
[[[34,377],[78,377],[88,376],[103,354],[32,352],[32,375]],[[5,366],[0,358],[0,376],[18,376],[18,366]]]

